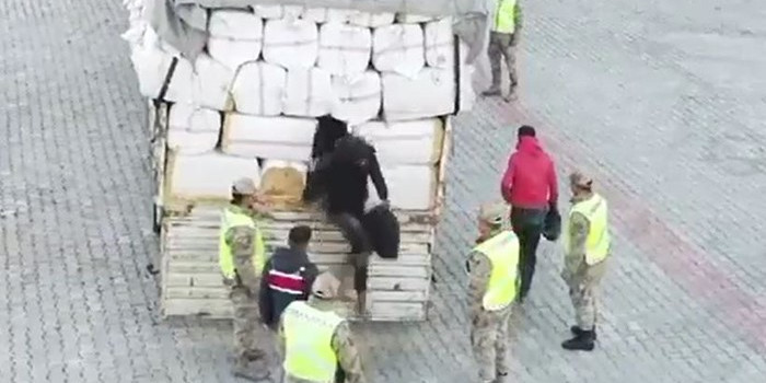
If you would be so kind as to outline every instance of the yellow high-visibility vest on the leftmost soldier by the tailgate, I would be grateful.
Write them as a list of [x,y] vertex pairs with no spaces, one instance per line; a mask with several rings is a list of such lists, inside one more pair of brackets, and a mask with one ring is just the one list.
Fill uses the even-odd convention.
[[260,229],[255,223],[253,217],[244,212],[233,211],[232,208],[227,208],[223,210],[223,216],[221,218],[221,234],[218,245],[218,263],[221,266],[223,278],[234,279],[236,277],[234,255],[232,254],[231,246],[227,243],[227,232],[229,229],[235,227],[247,227],[255,230],[253,265],[255,265],[255,275],[260,276],[260,271],[264,269],[264,265],[266,265],[266,245],[264,244]]

